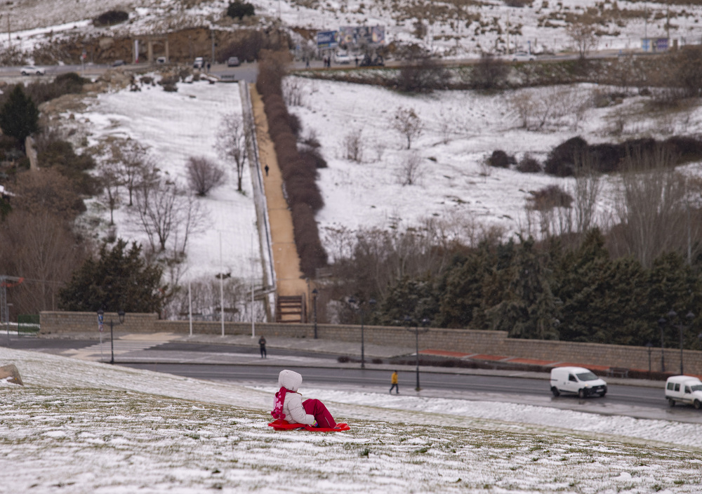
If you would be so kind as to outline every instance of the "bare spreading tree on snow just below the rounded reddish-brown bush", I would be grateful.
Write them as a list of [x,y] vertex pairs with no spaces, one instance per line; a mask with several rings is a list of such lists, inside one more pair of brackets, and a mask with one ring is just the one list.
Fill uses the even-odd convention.
[[160,178],[145,183],[136,189],[135,203],[135,215],[154,252],[164,253],[171,245],[176,253],[185,253],[190,234],[205,227],[200,204],[176,182]]

